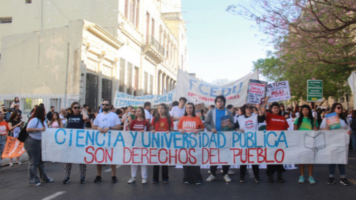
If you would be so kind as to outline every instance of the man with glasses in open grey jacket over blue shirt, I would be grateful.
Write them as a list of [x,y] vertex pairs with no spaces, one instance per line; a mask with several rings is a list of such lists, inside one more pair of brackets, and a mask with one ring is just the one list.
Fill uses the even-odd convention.
[[[216,134],[218,131],[222,131],[223,130],[222,122],[225,119],[229,121],[227,127],[224,127],[224,129],[226,129],[225,131],[232,130],[234,126],[233,115],[230,111],[228,111],[225,108],[225,104],[226,104],[225,96],[218,95],[217,97],[215,97],[214,102],[216,107],[211,109],[209,112],[207,112],[205,116],[204,126],[206,130],[212,131],[214,134]],[[222,167],[223,167],[223,176],[225,182],[231,182],[231,179],[228,175],[230,165],[223,165]],[[207,182],[212,182],[214,179],[216,179],[217,168],[218,168],[217,165],[210,166],[210,172],[212,174],[209,177],[207,177],[206,179]]]

